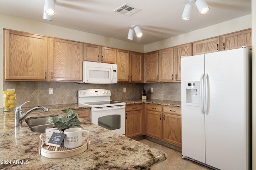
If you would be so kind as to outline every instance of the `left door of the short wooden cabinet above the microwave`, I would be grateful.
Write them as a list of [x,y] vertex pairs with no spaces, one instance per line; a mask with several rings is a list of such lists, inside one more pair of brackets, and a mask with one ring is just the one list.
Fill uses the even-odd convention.
[[84,44],[84,61],[100,62],[100,46]]

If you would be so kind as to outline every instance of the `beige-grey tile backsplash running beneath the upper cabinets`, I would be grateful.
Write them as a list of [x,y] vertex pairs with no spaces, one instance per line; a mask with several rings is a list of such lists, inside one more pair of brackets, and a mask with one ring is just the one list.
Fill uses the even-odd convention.
[[[123,88],[126,92],[123,92]],[[181,101],[180,83],[117,83],[117,84],[78,84],[76,82],[12,82],[4,81],[4,90],[16,89],[16,106],[26,101],[26,106],[72,104],[78,102],[78,90],[109,89],[111,100],[140,99],[142,88],[147,89],[148,99]],[[48,89],[53,89],[49,94]],[[150,89],[154,88],[154,92]]]

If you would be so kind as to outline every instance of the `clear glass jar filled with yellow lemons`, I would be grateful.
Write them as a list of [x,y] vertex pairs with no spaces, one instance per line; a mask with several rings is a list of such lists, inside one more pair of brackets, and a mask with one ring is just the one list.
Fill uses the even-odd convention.
[[13,111],[15,107],[15,90],[4,90],[4,111]]

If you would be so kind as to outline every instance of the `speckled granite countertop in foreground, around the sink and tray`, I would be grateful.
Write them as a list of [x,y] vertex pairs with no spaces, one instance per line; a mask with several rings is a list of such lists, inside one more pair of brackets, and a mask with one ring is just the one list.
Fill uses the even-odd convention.
[[[136,101],[135,101],[136,102]],[[36,110],[26,119],[62,115],[62,110],[85,109],[90,106],[63,104],[46,106],[49,111]],[[25,113],[28,107],[22,107]],[[30,131],[24,121],[22,126],[14,127],[14,111],[0,109],[0,168],[1,169],[147,169],[166,160],[167,154],[138,141],[127,138],[81,121],[82,129],[90,132],[88,149],[69,158],[53,159],[39,154],[40,133]]]

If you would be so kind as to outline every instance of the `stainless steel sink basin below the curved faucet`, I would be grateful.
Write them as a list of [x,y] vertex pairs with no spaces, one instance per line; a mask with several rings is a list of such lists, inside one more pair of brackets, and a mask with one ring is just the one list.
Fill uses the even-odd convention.
[[[57,116],[52,117],[54,118]],[[28,127],[30,128],[31,131],[33,132],[40,132],[44,133],[46,127],[53,127],[54,123],[46,123],[48,117],[40,117],[40,118],[35,118],[35,119],[27,119],[26,123],[28,124]]]

